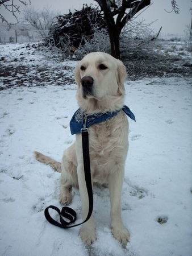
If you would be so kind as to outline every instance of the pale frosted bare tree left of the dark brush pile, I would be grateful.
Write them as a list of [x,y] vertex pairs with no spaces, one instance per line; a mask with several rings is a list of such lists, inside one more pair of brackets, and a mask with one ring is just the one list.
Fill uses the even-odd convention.
[[[57,14],[58,15],[58,14]],[[23,11],[23,20],[27,24],[30,24],[38,32],[42,38],[48,35],[48,32],[52,26],[53,18],[56,14],[49,10],[49,8],[44,8],[42,11],[35,10],[34,8],[27,8]]]

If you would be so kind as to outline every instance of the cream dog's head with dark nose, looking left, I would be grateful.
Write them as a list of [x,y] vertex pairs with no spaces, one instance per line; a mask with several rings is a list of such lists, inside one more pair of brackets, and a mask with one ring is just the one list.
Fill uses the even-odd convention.
[[77,65],[75,77],[77,100],[86,112],[113,111],[119,108],[110,102],[115,99],[123,104],[126,67],[122,61],[104,52],[91,52]]

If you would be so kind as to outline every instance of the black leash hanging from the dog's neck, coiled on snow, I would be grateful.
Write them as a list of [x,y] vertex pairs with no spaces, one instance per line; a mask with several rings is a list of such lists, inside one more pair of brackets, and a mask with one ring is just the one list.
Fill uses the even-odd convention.
[[[74,223],[77,219],[77,214],[72,208],[63,207],[62,210],[60,211],[59,208],[53,205],[50,205],[49,207],[47,207],[44,212],[45,218],[47,219],[47,221],[63,229],[73,228],[74,226],[79,226],[85,223],[87,220],[89,220],[89,218],[91,217],[91,213],[93,212],[93,189],[91,184],[91,170],[90,170],[90,158],[89,158],[89,129],[86,128],[86,115],[84,117],[84,128],[81,129],[81,136],[82,136],[82,150],[83,150],[83,158],[84,158],[85,181],[86,181],[87,193],[89,197],[89,212],[87,214],[86,219],[83,222],[76,225],[70,225]],[[53,210],[56,210],[56,212],[59,214],[60,222],[57,222],[50,216],[49,214],[50,208]],[[63,217],[67,218],[69,222],[65,221]]]

